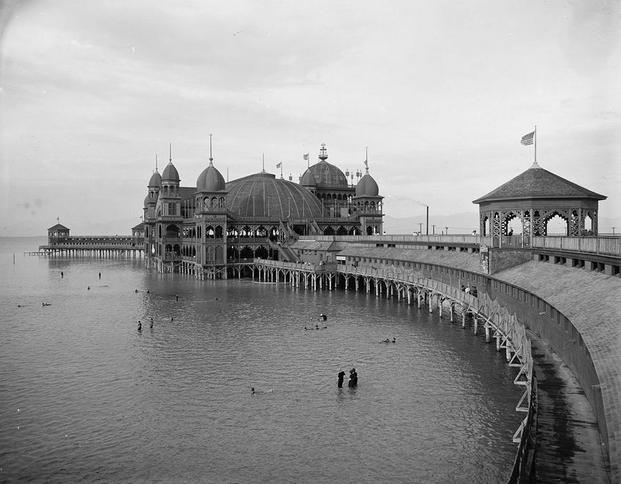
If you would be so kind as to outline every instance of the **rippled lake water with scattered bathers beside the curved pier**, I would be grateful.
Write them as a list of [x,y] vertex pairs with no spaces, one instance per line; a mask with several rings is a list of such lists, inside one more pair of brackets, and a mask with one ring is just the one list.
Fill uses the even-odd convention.
[[[44,241],[0,239],[1,482],[506,480],[515,368],[459,323],[352,291],[22,255]],[[304,330],[320,313],[328,328]],[[338,389],[351,367],[358,387]]]

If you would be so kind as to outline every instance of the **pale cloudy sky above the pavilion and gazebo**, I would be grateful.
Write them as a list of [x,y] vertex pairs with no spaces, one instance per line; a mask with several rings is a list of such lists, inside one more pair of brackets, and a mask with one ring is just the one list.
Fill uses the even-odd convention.
[[[139,223],[182,186],[369,173],[397,218],[477,212],[531,167],[621,217],[621,0],[0,0],[0,235]],[[169,144],[170,143],[170,144]],[[355,183],[356,179],[354,179]],[[75,228],[82,231],[76,232]],[[607,228],[600,224],[600,232]]]

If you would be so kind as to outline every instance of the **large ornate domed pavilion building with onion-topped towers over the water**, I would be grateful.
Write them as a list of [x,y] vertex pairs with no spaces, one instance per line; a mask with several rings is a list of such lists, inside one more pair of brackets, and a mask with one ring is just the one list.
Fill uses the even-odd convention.
[[262,170],[230,182],[213,164],[195,186],[181,186],[172,156],[148,182],[144,200],[146,265],[161,272],[226,278],[227,266],[255,257],[293,261],[301,235],[382,233],[382,200],[368,173],[354,185],[328,163],[325,145],[299,179]]

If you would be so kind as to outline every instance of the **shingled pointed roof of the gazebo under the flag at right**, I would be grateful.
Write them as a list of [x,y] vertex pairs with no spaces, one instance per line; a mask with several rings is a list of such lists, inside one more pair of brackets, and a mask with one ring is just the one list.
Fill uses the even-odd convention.
[[472,203],[514,199],[597,199],[607,197],[591,192],[558,175],[544,170],[536,162],[531,168],[507,181]]

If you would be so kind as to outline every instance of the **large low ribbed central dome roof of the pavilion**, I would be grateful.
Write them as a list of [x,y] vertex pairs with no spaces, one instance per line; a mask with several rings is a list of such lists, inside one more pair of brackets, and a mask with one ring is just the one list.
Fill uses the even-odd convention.
[[226,183],[226,204],[238,216],[320,219],[322,204],[315,195],[293,181],[261,172]]

